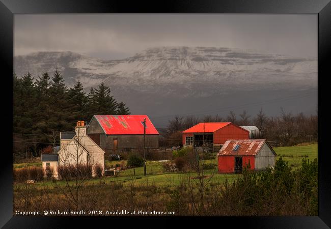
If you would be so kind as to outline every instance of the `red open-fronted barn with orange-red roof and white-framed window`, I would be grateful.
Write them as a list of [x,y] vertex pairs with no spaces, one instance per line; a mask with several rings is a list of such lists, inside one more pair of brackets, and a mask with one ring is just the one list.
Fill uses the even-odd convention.
[[250,139],[249,131],[233,123],[199,123],[182,133],[183,146],[199,147],[203,142],[220,146],[227,139]]

